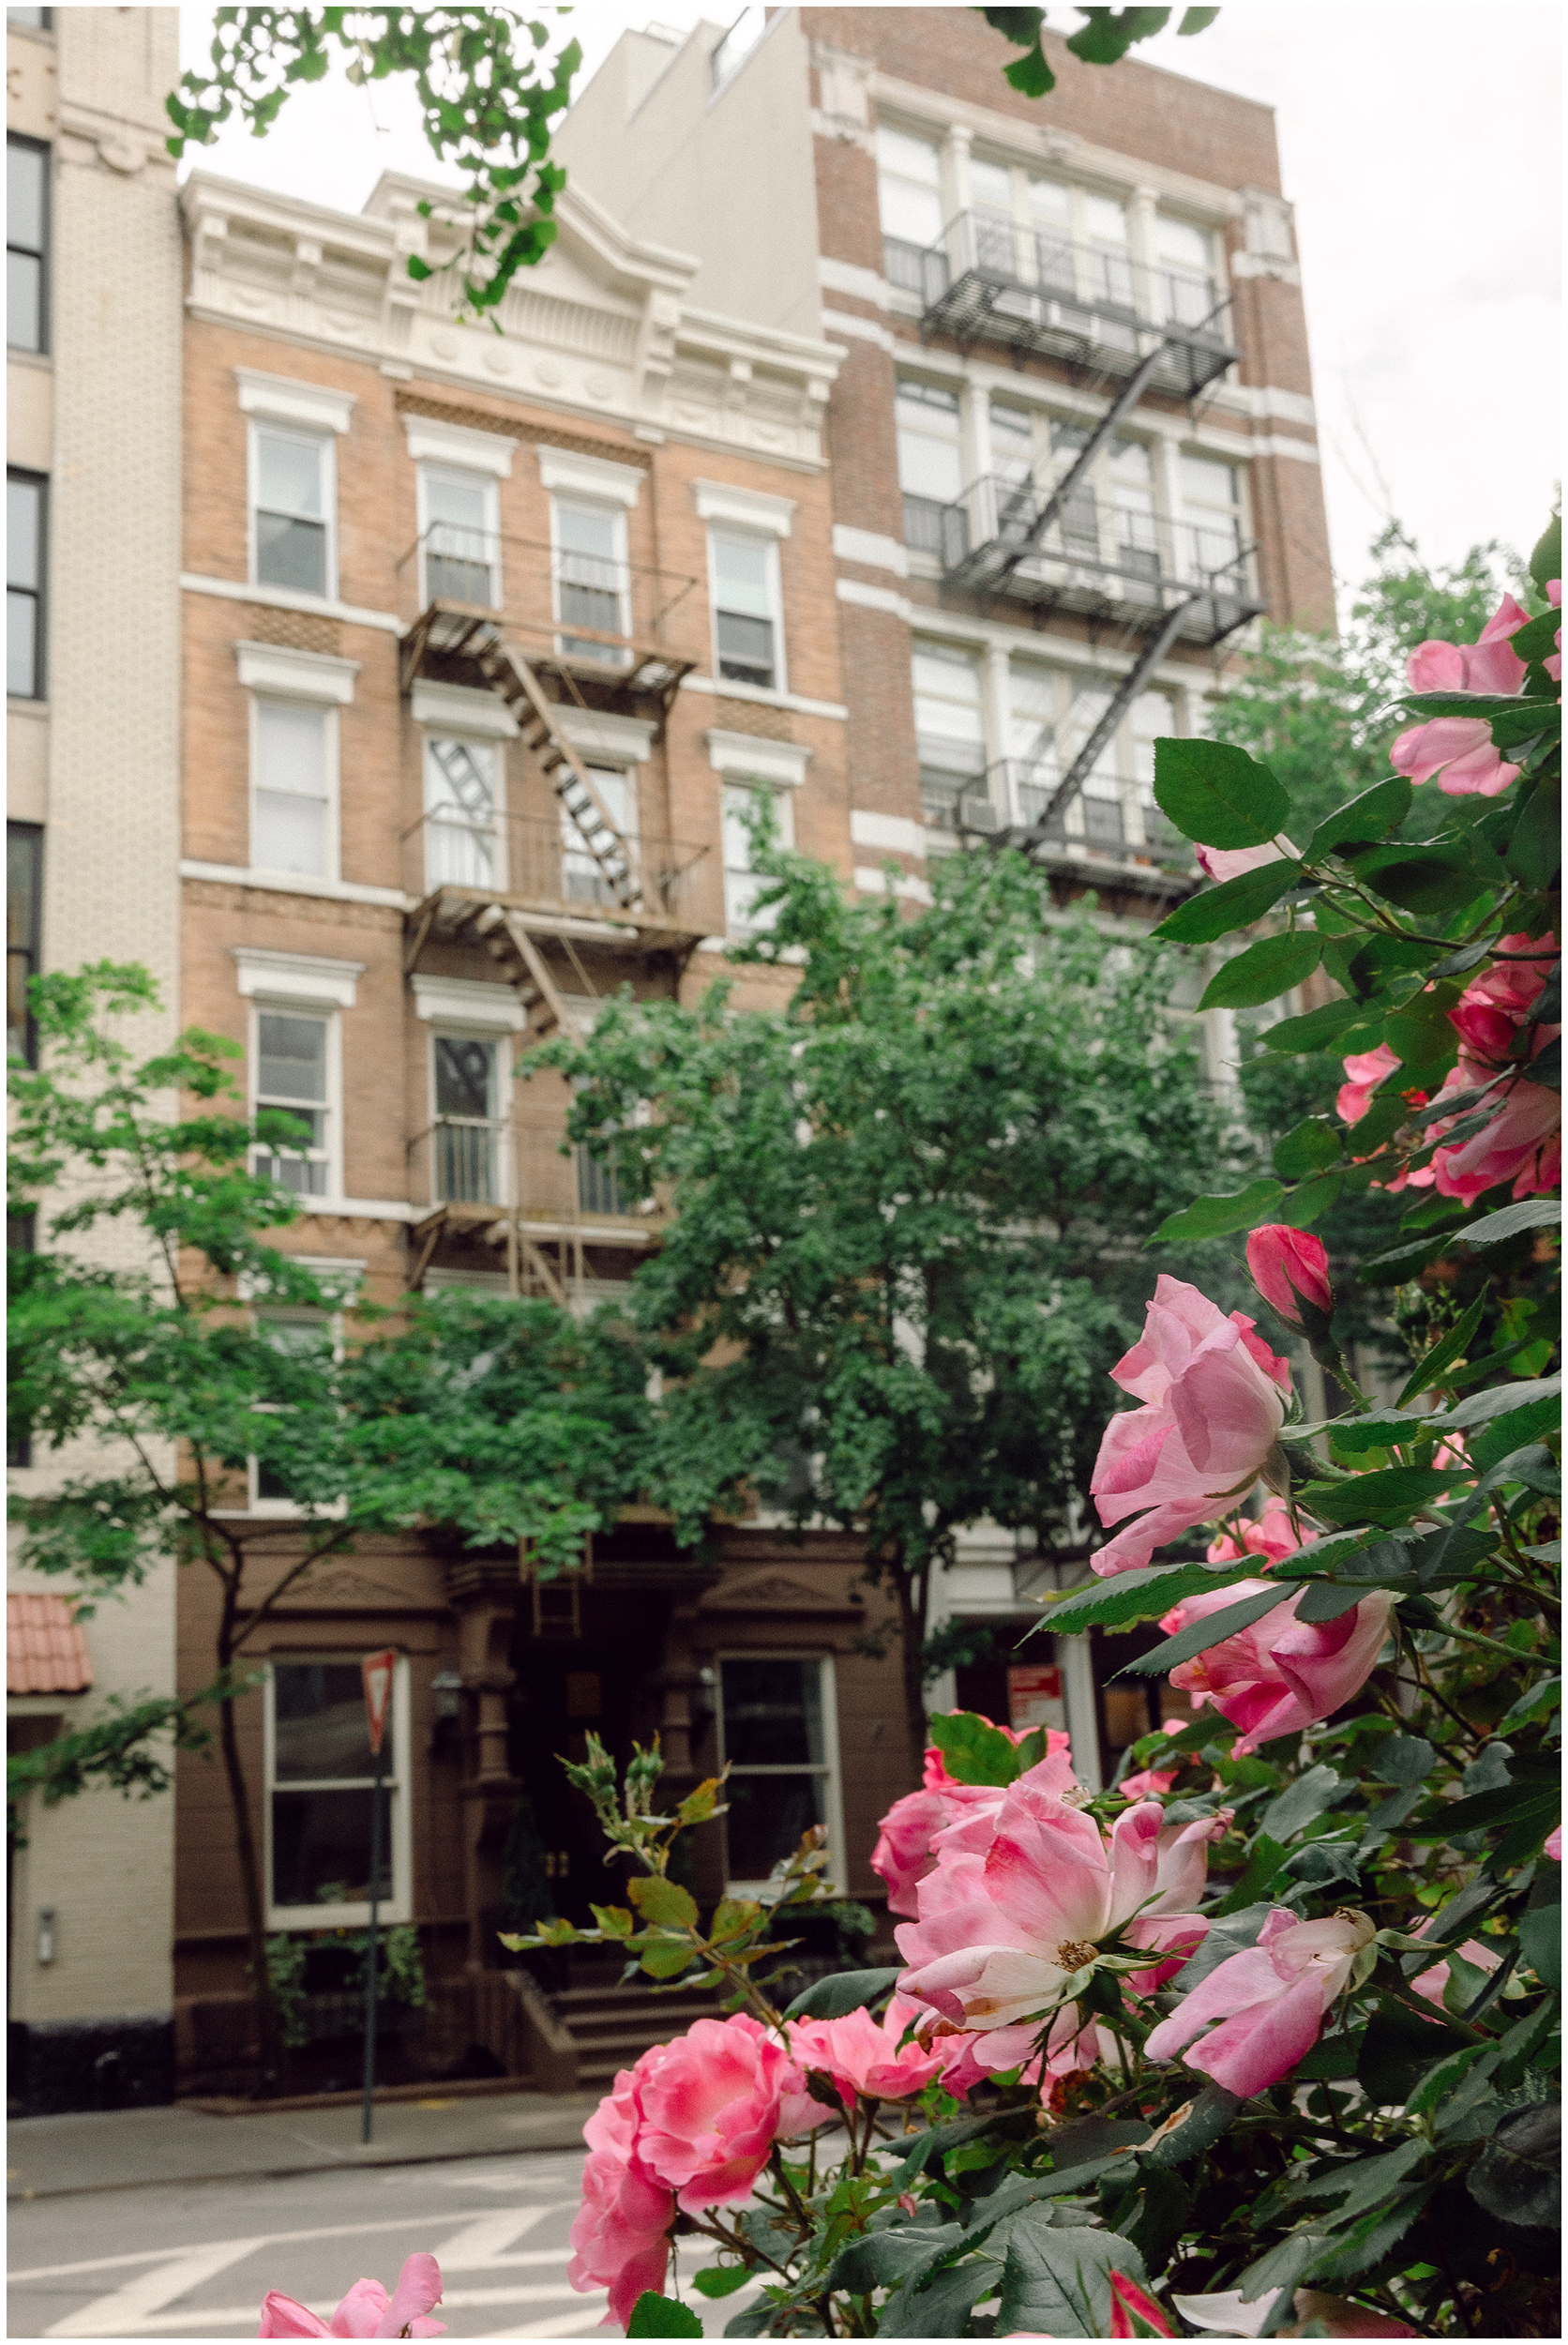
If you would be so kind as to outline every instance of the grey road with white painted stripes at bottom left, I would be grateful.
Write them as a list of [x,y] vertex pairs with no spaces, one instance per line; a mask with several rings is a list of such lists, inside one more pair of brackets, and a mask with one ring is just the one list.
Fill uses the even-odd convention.
[[[567,2284],[579,2176],[581,2150],[523,2148],[12,2197],[7,2336],[255,2336],[267,2289],[328,2317],[354,2279],[391,2286],[403,2258],[429,2249],[450,2336],[586,2338],[605,2298]],[[722,2336],[748,2303],[741,2291],[715,2305],[696,2298],[694,2310]]]

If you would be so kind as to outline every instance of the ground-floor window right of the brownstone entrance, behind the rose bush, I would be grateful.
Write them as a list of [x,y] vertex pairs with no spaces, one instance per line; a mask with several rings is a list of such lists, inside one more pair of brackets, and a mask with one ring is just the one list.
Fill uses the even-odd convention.
[[720,1660],[720,1763],[727,1874],[759,1888],[825,1824],[839,1841],[834,1672],[827,1656],[734,1653]]

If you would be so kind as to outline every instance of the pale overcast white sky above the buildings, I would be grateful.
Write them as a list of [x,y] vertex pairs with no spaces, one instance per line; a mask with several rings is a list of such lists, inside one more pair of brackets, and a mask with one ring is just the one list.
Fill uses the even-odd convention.
[[[626,26],[731,14],[560,12],[584,45],[579,87]],[[190,63],[211,9],[180,19]],[[1008,54],[998,42],[998,68]],[[1341,582],[1390,516],[1432,563],[1486,537],[1528,551],[1561,478],[1561,9],[1242,0],[1195,40],[1160,33],[1134,54],[1275,108]],[[347,211],[384,169],[436,176],[408,98],[342,80],[298,91],[265,141],[230,129],[199,159]]]

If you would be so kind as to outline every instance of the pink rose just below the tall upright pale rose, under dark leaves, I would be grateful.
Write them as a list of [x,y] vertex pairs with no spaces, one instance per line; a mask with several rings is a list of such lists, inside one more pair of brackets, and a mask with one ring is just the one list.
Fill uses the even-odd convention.
[[[1212,1595],[1186,1597],[1165,1613],[1160,1627],[1174,1637],[1195,1620],[1207,1620],[1228,1604],[1266,1590],[1268,1581],[1233,1581]],[[1388,1616],[1395,1609],[1385,1590],[1362,1597],[1338,1620],[1317,1623],[1296,1620],[1303,1592],[1170,1672],[1172,1686],[1193,1700],[1202,1695],[1242,1728],[1235,1740],[1238,1756],[1273,1742],[1275,1735],[1298,1733],[1313,1719],[1327,1719],[1366,1684],[1378,1663]]]

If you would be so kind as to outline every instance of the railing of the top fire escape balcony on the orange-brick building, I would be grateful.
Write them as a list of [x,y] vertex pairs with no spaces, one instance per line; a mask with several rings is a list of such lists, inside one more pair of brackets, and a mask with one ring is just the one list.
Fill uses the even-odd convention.
[[[584,682],[659,692],[710,657],[708,600],[696,579],[609,553],[574,553],[532,537],[436,521],[398,560],[398,617],[431,605],[485,612],[525,659]],[[457,640],[448,624],[445,638]],[[427,628],[420,652],[448,652]]]

